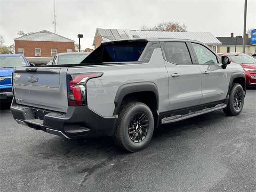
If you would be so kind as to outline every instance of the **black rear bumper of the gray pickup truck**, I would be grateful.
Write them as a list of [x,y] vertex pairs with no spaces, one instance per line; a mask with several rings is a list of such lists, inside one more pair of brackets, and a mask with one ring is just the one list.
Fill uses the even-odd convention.
[[112,136],[117,122],[117,117],[102,117],[88,106],[70,106],[60,113],[16,104],[13,99],[11,111],[19,124],[71,139]]

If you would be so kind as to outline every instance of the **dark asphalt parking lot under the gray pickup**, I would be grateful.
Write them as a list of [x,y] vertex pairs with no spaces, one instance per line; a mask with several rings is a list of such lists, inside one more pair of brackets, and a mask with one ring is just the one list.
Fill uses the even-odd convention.
[[0,191],[256,191],[256,90],[239,116],[222,110],[155,130],[148,148],[68,140],[0,111]]

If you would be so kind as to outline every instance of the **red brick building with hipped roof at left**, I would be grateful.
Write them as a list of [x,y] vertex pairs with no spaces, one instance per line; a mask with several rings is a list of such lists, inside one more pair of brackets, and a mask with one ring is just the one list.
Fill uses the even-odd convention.
[[45,64],[57,53],[75,51],[75,41],[46,30],[16,38],[14,42],[15,53],[23,54],[34,64]]

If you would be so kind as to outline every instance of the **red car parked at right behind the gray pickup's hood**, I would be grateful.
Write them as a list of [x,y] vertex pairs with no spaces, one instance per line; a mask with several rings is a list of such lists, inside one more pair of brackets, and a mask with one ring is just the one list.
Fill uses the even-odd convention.
[[231,62],[240,64],[245,71],[246,85],[256,86],[256,58],[244,53],[218,53],[230,57]]

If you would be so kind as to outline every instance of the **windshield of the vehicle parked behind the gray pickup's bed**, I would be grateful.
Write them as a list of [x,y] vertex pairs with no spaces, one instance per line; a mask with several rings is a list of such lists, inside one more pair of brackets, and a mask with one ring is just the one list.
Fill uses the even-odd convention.
[[89,54],[70,54],[70,55],[60,55],[59,65],[64,64],[78,64],[84,60]]

